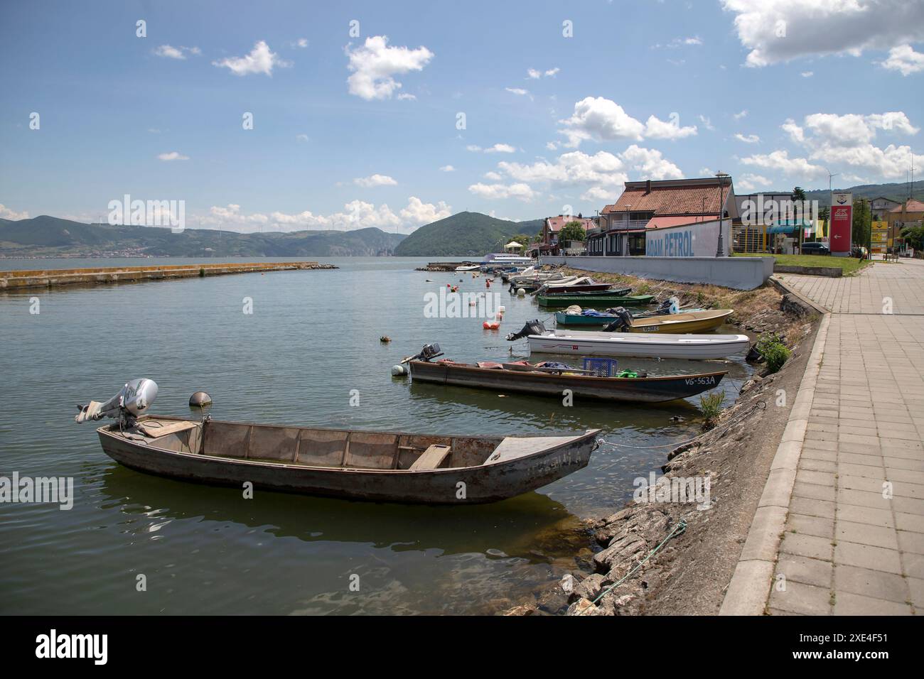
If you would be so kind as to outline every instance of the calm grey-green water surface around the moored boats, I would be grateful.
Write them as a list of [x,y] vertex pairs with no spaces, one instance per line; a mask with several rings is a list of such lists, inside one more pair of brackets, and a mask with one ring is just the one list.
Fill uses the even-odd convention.
[[[186,261],[0,261],[0,268]],[[188,416],[189,394],[202,389],[221,419],[460,434],[601,428],[608,441],[631,446],[697,433],[698,398],[565,407],[395,379],[391,366],[428,342],[456,360],[509,358],[505,333],[550,314],[497,285],[507,309],[500,332],[483,330],[480,319],[428,319],[425,293],[460,278],[462,291],[483,290],[485,279],[414,271],[425,259],[326,261],[341,268],[0,294],[0,476],[73,477],[76,495],[69,511],[0,503],[0,612],[493,612],[575,568],[577,551],[590,546],[581,519],[626,502],[632,479],[657,470],[669,450],[602,445],[589,467],[491,505],[408,507],[261,491],[245,500],[237,489],[119,467],[92,425],[74,423],[76,404],[104,401],[136,377],[158,383],[152,412],[164,415]],[[38,315],[30,314],[31,297],[39,298]],[[253,300],[249,315],[245,297]],[[391,344],[380,343],[383,334]],[[525,343],[513,347],[516,358],[527,356]],[[620,361],[653,374],[721,363]],[[731,401],[750,370],[743,359],[725,365]],[[349,405],[354,389],[359,406]],[[136,590],[139,574],[145,592]],[[359,592],[348,588],[354,574]]]

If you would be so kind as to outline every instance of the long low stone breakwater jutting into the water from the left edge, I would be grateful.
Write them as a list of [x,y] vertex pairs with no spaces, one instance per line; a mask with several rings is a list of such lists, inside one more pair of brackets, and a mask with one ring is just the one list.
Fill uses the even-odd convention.
[[59,285],[95,285],[105,283],[135,283],[162,281],[172,278],[217,276],[227,273],[268,271],[300,271],[304,269],[336,269],[333,264],[317,261],[272,261],[231,264],[169,264],[154,266],[120,266],[91,269],[45,269],[36,271],[0,272],[0,290],[25,290]]

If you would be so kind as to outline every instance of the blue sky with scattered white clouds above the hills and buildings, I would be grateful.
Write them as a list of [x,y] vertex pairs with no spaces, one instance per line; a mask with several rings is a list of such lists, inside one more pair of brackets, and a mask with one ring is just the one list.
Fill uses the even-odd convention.
[[924,3],[846,5],[7,3],[0,217],[128,194],[185,200],[192,227],[408,233],[716,170],[739,193],[905,181]]

